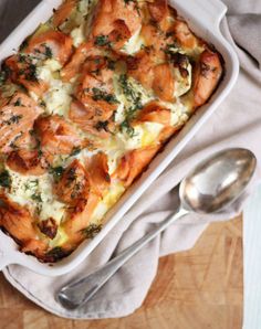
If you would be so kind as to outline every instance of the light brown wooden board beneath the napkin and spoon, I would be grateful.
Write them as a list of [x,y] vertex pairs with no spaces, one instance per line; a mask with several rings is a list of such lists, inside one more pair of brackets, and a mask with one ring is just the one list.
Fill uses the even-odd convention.
[[242,221],[211,224],[196,246],[160,259],[143,305],[122,319],[71,321],[48,314],[0,276],[1,329],[239,329]]

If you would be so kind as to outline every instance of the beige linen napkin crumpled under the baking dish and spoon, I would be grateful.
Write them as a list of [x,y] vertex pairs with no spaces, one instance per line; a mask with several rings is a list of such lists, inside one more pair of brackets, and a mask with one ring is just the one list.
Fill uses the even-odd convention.
[[[8,3],[12,2],[30,1],[8,1]],[[227,220],[240,210],[242,203],[237,202],[219,215],[189,215],[180,223],[176,223],[135,255],[81,309],[66,311],[54,299],[54,293],[63,284],[92,273],[95,267],[105,264],[176,209],[178,198],[175,187],[202,158],[223,148],[244,147],[251,149],[261,163],[261,72],[259,70],[261,56],[260,43],[257,43],[260,38],[258,31],[261,31],[261,15],[257,14],[261,12],[261,1],[226,2],[227,4],[231,2],[232,17],[228,21],[231,24],[232,35],[240,45],[240,47],[234,45],[242,67],[236,87],[180,156],[74,272],[59,278],[48,278],[15,265],[3,270],[6,278],[35,304],[59,316],[75,319],[129,315],[143,304],[156,275],[160,256],[192,247],[208,222]],[[255,13],[255,19],[246,13]],[[227,21],[223,22],[223,30],[226,36],[232,42]],[[242,38],[241,33],[247,38]],[[260,164],[254,181],[259,179],[261,179]]]

